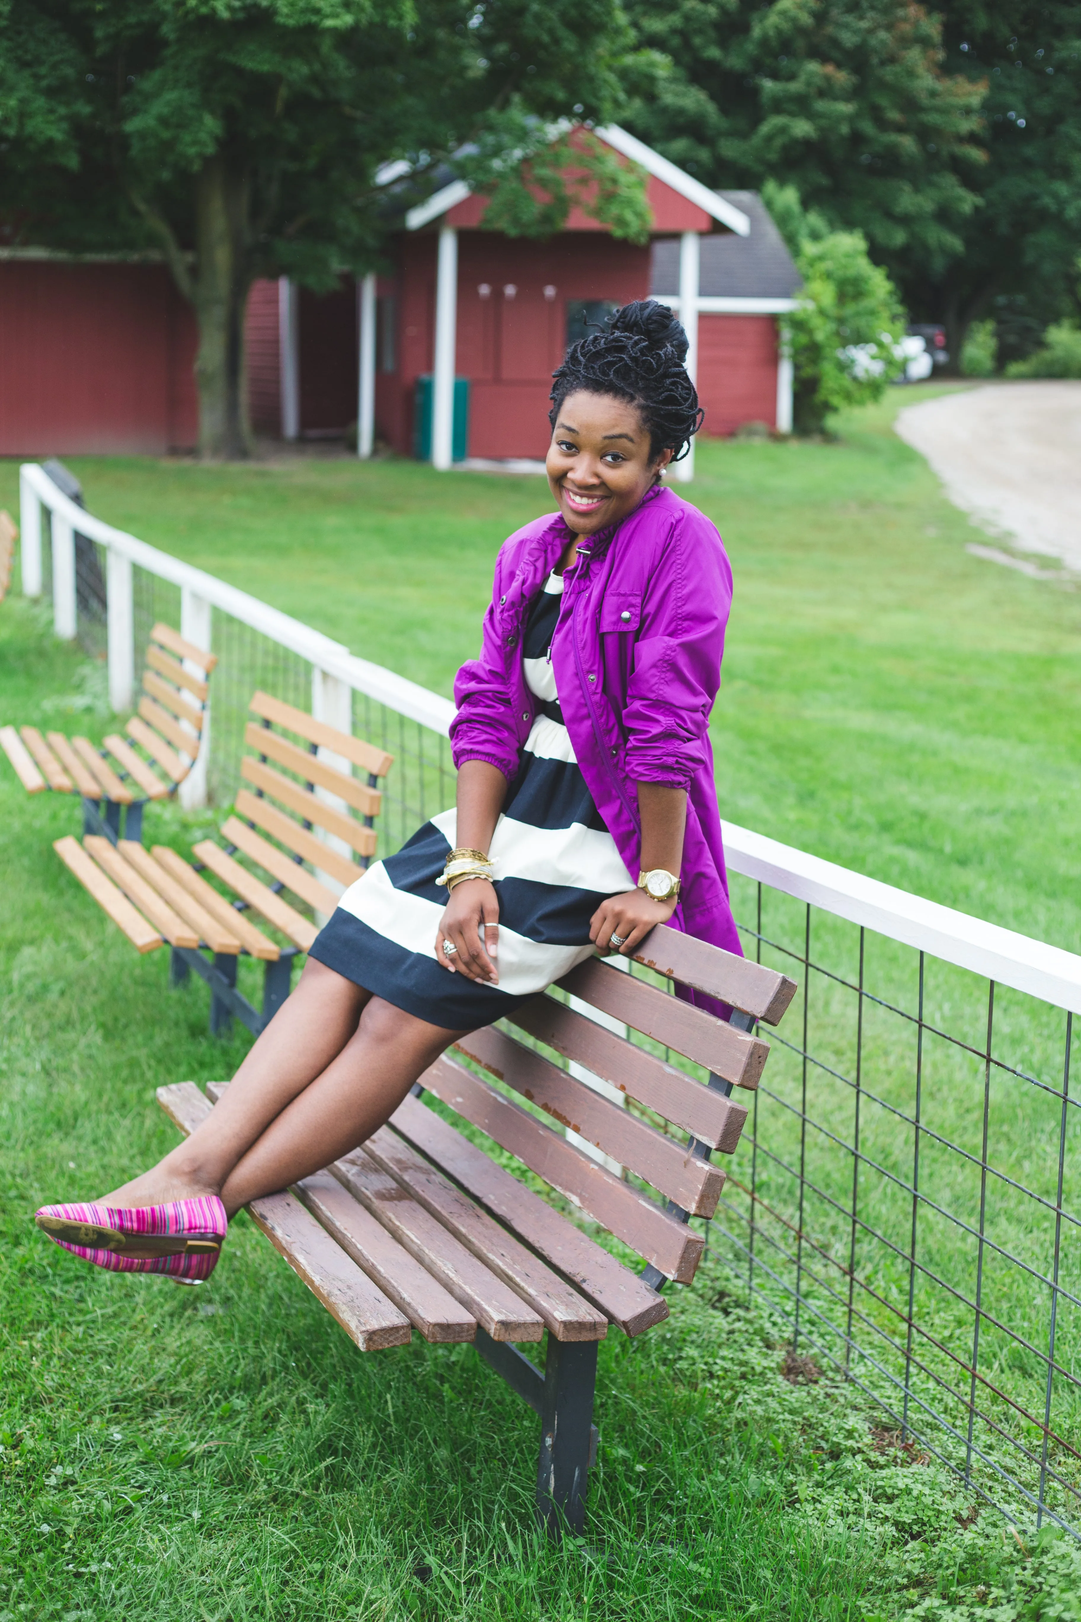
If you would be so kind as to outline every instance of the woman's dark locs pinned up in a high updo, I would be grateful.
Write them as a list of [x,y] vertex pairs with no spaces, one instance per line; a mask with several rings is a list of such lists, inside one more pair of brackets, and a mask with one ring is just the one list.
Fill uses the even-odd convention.
[[548,420],[554,428],[569,394],[613,394],[637,406],[650,435],[650,456],[671,449],[673,462],[679,462],[705,415],[686,360],[687,334],[668,305],[639,298],[570,345],[553,373]]

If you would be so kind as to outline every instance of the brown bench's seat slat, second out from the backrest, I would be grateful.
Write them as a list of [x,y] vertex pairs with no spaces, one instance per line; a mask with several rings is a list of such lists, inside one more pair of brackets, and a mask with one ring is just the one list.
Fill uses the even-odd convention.
[[429,1166],[387,1127],[365,1144],[365,1153],[462,1241],[467,1251],[540,1312],[556,1340],[603,1340],[608,1319],[553,1273],[494,1218]]

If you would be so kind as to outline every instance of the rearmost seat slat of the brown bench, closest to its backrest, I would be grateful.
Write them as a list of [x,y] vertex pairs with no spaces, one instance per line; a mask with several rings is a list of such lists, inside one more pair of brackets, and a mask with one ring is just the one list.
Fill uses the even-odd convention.
[[420,1098],[405,1098],[391,1116],[391,1126],[627,1335],[640,1335],[668,1317],[663,1296]]

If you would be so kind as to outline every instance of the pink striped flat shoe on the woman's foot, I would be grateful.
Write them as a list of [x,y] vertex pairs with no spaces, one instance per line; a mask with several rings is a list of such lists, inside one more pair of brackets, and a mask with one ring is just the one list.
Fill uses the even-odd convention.
[[229,1218],[216,1194],[169,1205],[42,1205],[34,1221],[65,1251],[112,1273],[201,1283],[217,1265]]

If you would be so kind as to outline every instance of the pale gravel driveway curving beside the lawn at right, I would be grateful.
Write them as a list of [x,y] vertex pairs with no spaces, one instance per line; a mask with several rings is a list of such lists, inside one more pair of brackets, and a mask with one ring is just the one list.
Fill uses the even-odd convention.
[[1081,383],[990,383],[942,394],[906,406],[896,431],[982,529],[1081,574]]

